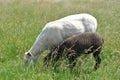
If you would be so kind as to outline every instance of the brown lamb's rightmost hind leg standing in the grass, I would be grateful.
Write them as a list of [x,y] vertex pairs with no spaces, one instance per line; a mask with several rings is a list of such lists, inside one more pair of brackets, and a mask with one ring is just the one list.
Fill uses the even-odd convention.
[[95,60],[96,60],[96,64],[95,64],[95,66],[94,66],[94,69],[95,69],[95,70],[97,70],[97,68],[99,67],[99,65],[100,65],[100,63],[101,63],[101,58],[100,58],[100,56],[99,56],[100,52],[101,52],[101,49],[99,49],[99,50],[97,50],[95,53],[93,53],[93,56],[94,56],[94,58],[95,58]]

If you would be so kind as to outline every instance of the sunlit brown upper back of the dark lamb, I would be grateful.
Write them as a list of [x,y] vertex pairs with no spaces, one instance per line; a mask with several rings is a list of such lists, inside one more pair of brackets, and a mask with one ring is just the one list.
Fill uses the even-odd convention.
[[73,35],[72,37],[67,38],[64,43],[69,44],[70,46],[77,44],[80,46],[84,45],[102,45],[103,38],[96,32],[85,32],[78,35]]

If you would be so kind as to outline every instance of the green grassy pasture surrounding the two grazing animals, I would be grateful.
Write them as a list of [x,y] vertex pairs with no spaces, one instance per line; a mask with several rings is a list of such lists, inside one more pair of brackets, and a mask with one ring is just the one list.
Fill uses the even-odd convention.
[[[45,51],[36,67],[25,67],[23,56],[49,21],[76,13],[98,20],[104,38],[102,63],[94,71],[92,55],[71,72],[61,60],[57,70],[43,69]],[[119,0],[0,0],[0,80],[120,80]]]

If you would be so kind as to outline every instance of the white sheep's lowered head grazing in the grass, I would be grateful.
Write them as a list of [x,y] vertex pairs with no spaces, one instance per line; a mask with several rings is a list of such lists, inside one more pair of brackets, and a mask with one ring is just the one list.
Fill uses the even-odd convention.
[[30,64],[33,64],[35,66],[36,58],[32,55],[31,52],[25,52],[24,61],[26,66]]

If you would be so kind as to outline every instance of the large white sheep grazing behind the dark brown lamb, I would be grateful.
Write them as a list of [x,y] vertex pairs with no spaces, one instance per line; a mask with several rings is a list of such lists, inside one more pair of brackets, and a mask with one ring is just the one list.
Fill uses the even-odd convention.
[[35,65],[43,51],[49,50],[51,53],[64,39],[78,33],[95,32],[96,29],[96,18],[87,13],[70,15],[47,23],[29,51],[25,52],[25,65]]

